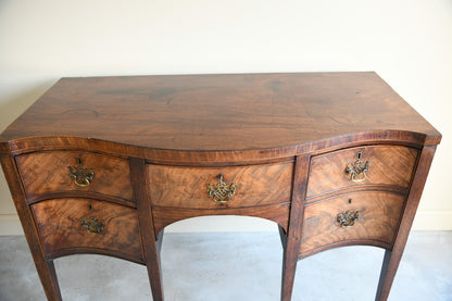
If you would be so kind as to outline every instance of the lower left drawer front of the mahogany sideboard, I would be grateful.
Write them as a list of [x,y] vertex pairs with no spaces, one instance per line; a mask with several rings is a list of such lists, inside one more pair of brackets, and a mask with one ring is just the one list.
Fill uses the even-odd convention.
[[111,251],[133,261],[143,259],[136,209],[67,198],[41,201],[32,210],[46,253]]

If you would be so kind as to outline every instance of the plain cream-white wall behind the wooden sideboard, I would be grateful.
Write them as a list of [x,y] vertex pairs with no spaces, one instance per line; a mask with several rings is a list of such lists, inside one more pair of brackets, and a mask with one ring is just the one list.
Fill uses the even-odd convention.
[[[415,228],[451,230],[450,0],[0,1],[0,130],[62,76],[312,71],[376,71],[443,134]],[[227,228],[200,221],[173,229]]]

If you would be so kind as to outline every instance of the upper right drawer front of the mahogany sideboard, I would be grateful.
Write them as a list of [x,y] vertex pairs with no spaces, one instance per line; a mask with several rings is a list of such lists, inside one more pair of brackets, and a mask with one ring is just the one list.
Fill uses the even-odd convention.
[[[314,156],[307,197],[356,185],[407,188],[418,151],[401,146],[366,146]],[[360,159],[359,159],[360,156]]]

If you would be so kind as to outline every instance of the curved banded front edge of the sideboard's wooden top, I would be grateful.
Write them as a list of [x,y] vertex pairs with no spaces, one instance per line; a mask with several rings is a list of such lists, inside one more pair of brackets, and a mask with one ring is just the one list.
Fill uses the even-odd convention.
[[[0,137],[1,138],[1,137]],[[436,139],[436,140],[435,140]],[[7,146],[11,153],[20,155],[36,151],[86,149],[117,156],[145,158],[148,163],[184,166],[229,166],[246,164],[263,164],[281,161],[299,154],[316,154],[338,149],[374,143],[397,143],[407,146],[423,146],[426,142],[439,142],[440,138],[422,133],[403,130],[374,130],[343,134],[322,140],[297,146],[275,147],[250,150],[168,150],[151,149],[130,145],[121,145],[111,141],[84,137],[40,136],[24,137],[10,140]],[[1,151],[2,148],[0,148]],[[8,152],[7,152],[8,153]]]

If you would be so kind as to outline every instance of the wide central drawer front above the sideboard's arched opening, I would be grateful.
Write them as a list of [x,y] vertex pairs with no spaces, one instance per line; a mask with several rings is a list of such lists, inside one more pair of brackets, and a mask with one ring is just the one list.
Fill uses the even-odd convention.
[[147,168],[152,205],[221,209],[290,201],[293,162],[230,167],[149,164]]

